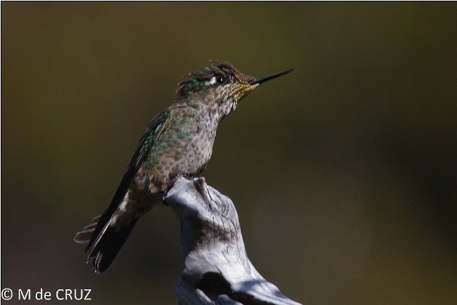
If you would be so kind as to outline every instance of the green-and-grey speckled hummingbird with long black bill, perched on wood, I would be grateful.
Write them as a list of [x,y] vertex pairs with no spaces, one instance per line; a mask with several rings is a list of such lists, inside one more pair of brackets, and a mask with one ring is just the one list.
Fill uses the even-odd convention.
[[259,84],[291,71],[255,78],[215,61],[178,84],[174,103],[151,120],[141,137],[108,209],[74,236],[76,243],[87,244],[87,263],[97,274],[113,264],[140,217],[164,206],[176,179],[201,174],[219,122],[238,102]]

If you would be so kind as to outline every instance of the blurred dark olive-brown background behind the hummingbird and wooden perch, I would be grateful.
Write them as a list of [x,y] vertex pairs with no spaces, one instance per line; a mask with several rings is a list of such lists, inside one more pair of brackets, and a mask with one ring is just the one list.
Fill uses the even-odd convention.
[[1,287],[176,304],[170,209],[106,274],[72,239],[222,59],[296,69],[221,123],[204,172],[258,271],[305,304],[456,304],[456,54],[456,3],[1,2]]

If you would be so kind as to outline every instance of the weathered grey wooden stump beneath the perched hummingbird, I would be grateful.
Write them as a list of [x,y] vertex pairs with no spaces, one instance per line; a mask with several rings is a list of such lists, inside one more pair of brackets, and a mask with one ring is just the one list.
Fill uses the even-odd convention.
[[165,201],[180,222],[185,269],[174,289],[179,304],[298,304],[249,261],[229,197],[204,178],[179,179]]

